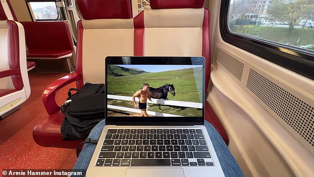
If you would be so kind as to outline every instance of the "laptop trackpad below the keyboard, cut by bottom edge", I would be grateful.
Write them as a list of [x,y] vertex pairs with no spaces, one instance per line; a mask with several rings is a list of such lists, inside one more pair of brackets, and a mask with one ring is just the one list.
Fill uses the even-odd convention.
[[184,177],[181,168],[129,168],[125,177]]

